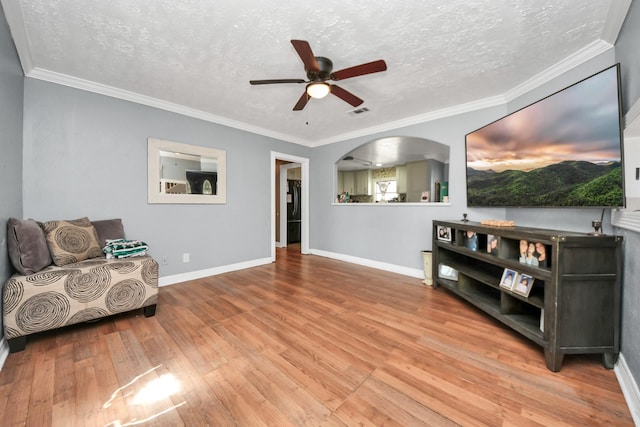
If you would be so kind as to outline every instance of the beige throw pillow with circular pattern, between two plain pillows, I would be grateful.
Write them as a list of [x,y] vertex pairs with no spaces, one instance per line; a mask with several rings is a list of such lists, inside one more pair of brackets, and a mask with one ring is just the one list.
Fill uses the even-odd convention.
[[53,263],[63,266],[89,258],[101,257],[96,229],[89,218],[41,223]]

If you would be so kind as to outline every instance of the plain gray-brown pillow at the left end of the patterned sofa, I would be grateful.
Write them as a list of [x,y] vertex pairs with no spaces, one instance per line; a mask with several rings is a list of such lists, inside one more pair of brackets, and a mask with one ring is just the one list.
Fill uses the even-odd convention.
[[7,248],[9,259],[20,274],[33,274],[51,264],[44,232],[32,219],[9,218]]

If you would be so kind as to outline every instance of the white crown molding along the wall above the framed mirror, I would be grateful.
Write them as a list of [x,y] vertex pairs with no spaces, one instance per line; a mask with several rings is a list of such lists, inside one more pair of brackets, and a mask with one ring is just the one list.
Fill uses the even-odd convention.
[[97,93],[100,95],[110,96],[112,98],[118,98],[125,101],[134,102],[137,104],[147,105],[154,108],[159,108],[161,110],[182,114],[184,116],[193,117],[196,119],[216,123],[219,125],[228,126],[228,127],[243,130],[246,132],[255,133],[258,135],[267,136],[269,138],[278,139],[280,141],[287,141],[287,142],[292,142],[300,145],[308,144],[308,141],[301,140],[299,138],[294,138],[291,135],[274,132],[269,129],[264,129],[258,126],[252,126],[248,123],[228,119],[222,116],[217,116],[215,114],[207,113],[202,110],[197,110],[195,108],[185,107],[183,105],[174,104],[172,102],[163,101],[161,99],[153,98],[146,95],[141,95],[136,92],[118,89],[113,86],[103,85],[101,83],[92,82],[90,80],[79,79],[77,77],[72,77],[66,74],[56,73],[54,71],[43,70],[41,68],[33,68],[31,72],[29,72],[26,75],[26,77],[43,80],[51,83],[56,83],[63,86],[84,90],[87,92]]

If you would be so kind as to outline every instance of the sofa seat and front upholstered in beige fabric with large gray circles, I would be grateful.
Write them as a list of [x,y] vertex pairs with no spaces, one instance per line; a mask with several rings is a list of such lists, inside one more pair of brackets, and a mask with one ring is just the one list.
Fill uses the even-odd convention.
[[149,256],[94,258],[14,274],[4,284],[4,336],[13,339],[158,302],[158,264]]

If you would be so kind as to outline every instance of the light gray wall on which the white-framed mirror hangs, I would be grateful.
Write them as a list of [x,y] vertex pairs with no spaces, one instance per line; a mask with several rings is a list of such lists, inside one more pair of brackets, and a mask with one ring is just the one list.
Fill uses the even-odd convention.
[[[167,257],[161,277],[270,257],[270,152],[310,155],[296,144],[30,78],[24,104],[24,215],[122,218],[128,238]],[[147,204],[148,137],[226,150],[227,203]]]

